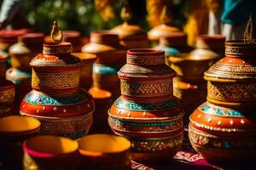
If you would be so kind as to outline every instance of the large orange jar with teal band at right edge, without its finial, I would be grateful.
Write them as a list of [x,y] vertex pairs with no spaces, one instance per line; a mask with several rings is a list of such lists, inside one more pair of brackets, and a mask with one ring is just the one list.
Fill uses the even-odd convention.
[[256,45],[225,43],[225,57],[205,72],[207,102],[190,116],[189,139],[208,161],[255,156]]

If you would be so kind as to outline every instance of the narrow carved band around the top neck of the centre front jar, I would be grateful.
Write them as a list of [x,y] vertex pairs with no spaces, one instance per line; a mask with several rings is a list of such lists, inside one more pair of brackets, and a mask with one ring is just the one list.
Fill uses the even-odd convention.
[[137,57],[127,55],[127,64],[131,65],[164,65],[166,62],[165,55],[163,56],[150,56],[150,57]]

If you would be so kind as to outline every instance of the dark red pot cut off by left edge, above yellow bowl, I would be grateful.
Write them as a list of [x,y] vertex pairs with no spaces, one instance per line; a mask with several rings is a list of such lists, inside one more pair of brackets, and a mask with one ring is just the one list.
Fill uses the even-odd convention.
[[4,79],[0,84],[0,117],[14,115],[15,85]]

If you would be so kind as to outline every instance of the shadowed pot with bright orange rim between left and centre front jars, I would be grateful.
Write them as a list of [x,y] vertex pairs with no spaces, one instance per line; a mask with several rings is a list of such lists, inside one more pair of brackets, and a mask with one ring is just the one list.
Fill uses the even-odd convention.
[[89,133],[111,133],[108,126],[108,109],[113,104],[112,94],[100,88],[90,88],[89,93],[95,102],[93,125]]

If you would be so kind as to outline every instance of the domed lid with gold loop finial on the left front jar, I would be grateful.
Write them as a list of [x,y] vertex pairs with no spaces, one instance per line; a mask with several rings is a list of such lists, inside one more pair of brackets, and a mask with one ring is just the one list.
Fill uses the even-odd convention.
[[43,45],[43,54],[38,54],[30,62],[31,66],[75,66],[83,65],[83,62],[73,56],[72,43],[61,42],[63,35],[55,21],[51,31],[51,38],[53,42],[46,42]]

